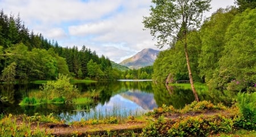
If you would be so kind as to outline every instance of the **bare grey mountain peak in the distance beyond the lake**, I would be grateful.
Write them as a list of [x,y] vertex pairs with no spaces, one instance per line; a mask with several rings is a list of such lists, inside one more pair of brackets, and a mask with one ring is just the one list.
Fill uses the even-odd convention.
[[145,66],[151,66],[155,62],[155,59],[159,53],[159,50],[143,49],[133,57],[123,60],[119,65],[127,66],[129,68],[141,68]]

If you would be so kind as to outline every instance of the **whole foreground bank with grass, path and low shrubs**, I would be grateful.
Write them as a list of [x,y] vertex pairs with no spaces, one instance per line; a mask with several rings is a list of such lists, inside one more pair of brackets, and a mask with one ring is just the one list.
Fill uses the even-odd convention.
[[[239,96],[238,98],[242,100],[250,100],[255,93]],[[254,108],[246,106],[248,102],[244,104],[240,99],[230,108],[221,104],[213,105],[209,101],[192,102],[183,109],[174,109],[173,106],[163,105],[142,116],[129,115],[122,120],[118,117],[82,119],[71,122],[67,126],[64,125],[65,127],[61,126],[64,121],[57,121],[52,115],[35,114],[31,117],[25,115],[22,119],[27,122],[21,122],[21,124],[17,122],[20,118],[7,115],[0,121],[1,136],[26,136],[27,134],[28,136],[34,134],[44,136],[49,134],[74,136],[255,136],[255,113],[248,113],[254,110],[255,106]],[[33,122],[38,123],[37,129],[31,128]],[[45,124],[40,127],[42,122]],[[26,123],[26,127],[24,123]],[[58,128],[70,131],[51,132],[51,126],[55,127],[55,131]],[[46,130],[38,130],[40,128],[46,128]]]

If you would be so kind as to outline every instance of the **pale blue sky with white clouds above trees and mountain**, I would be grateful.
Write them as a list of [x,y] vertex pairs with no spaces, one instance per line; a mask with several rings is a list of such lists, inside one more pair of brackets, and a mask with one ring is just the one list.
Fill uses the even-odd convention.
[[[85,45],[117,63],[144,48],[159,50],[150,31],[143,31],[150,5],[151,0],[0,0],[5,14],[19,14],[35,34],[63,47]],[[234,0],[212,0],[204,15],[226,6]]]

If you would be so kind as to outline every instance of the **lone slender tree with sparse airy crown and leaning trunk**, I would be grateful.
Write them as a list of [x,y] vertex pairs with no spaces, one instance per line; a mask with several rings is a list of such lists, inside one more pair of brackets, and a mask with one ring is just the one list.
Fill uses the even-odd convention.
[[209,11],[211,0],[152,0],[150,16],[144,17],[145,28],[150,29],[158,42],[156,46],[163,48],[174,41],[181,41],[187,61],[189,80],[196,101],[199,101],[189,62],[187,50],[187,34],[200,27],[203,12]]

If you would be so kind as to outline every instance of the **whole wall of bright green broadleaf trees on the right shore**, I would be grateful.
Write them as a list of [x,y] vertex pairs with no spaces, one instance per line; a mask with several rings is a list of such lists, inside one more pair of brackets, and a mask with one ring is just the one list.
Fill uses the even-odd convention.
[[[252,7],[220,8],[199,30],[190,30],[187,48],[193,78],[206,82],[210,90],[256,91],[255,3]],[[159,53],[153,79],[189,80],[179,41]]]

